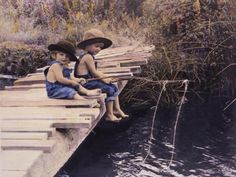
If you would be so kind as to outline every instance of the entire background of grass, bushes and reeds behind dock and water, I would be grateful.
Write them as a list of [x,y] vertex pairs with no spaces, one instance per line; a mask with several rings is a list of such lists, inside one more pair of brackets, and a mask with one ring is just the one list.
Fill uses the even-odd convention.
[[[190,80],[188,92],[235,97],[234,0],[1,0],[0,73],[25,76],[49,61],[46,46],[73,43],[99,28],[114,47],[153,44],[142,77]],[[126,103],[156,101],[162,85],[134,80]],[[178,103],[183,84],[168,84],[163,103]],[[141,96],[142,95],[142,96]],[[127,99],[128,98],[128,99]]]

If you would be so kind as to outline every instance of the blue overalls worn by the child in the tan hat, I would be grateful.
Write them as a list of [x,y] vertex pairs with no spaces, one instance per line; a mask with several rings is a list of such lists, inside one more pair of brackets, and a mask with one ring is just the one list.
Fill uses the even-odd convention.
[[[77,78],[85,78],[85,79],[94,78],[90,72],[86,75],[79,75],[78,74],[78,66],[79,66],[80,60],[86,54],[90,54],[90,53],[81,54],[79,56],[79,59],[75,63],[74,76]],[[95,59],[94,56],[92,54],[90,54],[90,55],[93,57],[93,60],[94,60]],[[95,63],[95,66],[96,66],[96,63]],[[96,66],[96,68],[97,68],[97,66]],[[107,98],[105,100],[106,102],[114,101],[115,97],[117,97],[119,95],[119,90],[114,84],[106,84],[106,83],[102,82],[101,80],[88,81],[83,86],[89,90],[90,89],[98,89],[98,88],[101,89],[102,93],[107,94]]]

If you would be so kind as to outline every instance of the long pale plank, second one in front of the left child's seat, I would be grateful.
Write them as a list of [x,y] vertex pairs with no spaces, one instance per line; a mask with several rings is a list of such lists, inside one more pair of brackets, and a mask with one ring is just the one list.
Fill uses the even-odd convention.
[[[27,110],[27,111],[26,111]],[[99,108],[0,107],[0,120],[63,120],[83,115],[98,117]]]

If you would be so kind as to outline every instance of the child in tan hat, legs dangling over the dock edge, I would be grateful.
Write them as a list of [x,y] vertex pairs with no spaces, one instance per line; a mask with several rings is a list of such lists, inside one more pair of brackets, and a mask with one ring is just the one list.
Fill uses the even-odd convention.
[[[111,83],[112,79],[106,77],[105,74],[97,70],[95,63],[95,55],[112,45],[112,41],[104,37],[104,34],[97,29],[90,29],[85,32],[83,41],[78,44],[78,48],[83,49],[84,52],[76,61],[74,76],[77,78],[98,78],[90,80],[83,86],[87,89],[99,88],[102,93],[107,94],[106,98],[106,120],[112,122],[119,122],[121,118],[128,117],[119,104],[119,90]],[[115,113],[114,113],[115,111]]]

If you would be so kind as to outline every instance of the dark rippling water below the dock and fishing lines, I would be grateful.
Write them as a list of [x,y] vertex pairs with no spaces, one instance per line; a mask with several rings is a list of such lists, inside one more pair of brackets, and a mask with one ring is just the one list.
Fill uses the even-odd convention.
[[[134,115],[125,131],[92,134],[63,167],[70,177],[236,176],[236,104],[215,100],[183,105],[171,157],[175,109],[158,110],[147,154],[154,110]],[[60,175],[63,176],[63,172]]]

